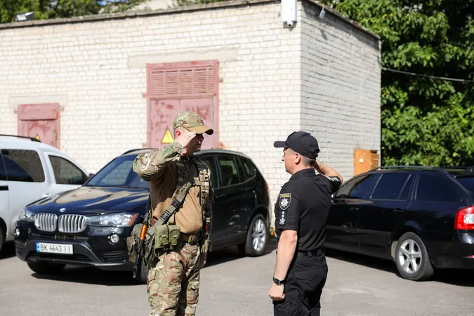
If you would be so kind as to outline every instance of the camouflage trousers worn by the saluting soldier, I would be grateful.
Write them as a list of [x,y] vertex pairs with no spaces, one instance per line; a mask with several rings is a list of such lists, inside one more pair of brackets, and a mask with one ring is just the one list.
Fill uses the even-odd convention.
[[201,251],[197,244],[180,243],[175,251],[159,253],[148,270],[150,316],[195,315],[199,299],[200,259]]

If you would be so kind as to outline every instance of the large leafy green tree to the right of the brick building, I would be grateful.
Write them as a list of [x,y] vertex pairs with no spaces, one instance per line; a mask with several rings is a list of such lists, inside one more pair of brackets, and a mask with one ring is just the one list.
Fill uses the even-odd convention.
[[[474,164],[474,0],[322,0],[382,39],[382,164]],[[448,81],[450,77],[470,81]]]

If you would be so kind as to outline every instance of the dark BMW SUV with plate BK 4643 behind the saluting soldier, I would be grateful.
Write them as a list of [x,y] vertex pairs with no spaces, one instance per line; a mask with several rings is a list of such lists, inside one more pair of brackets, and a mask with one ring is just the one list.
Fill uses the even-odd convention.
[[[131,270],[126,237],[143,220],[150,183],[132,171],[145,150],[113,159],[81,187],[29,204],[15,227],[16,256],[34,272],[49,274],[66,264]],[[211,169],[213,250],[237,245],[260,256],[269,238],[268,185],[249,157],[230,150],[197,152]],[[143,265],[144,266],[144,265]],[[143,269],[139,275],[146,282]]]

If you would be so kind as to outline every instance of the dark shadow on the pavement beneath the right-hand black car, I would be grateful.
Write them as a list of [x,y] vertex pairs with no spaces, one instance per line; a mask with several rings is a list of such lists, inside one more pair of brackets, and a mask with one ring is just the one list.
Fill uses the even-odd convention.
[[[394,273],[402,278],[398,273],[395,262],[390,260],[364,256],[362,254],[353,254],[336,249],[326,249],[325,253],[329,258]],[[442,282],[446,284],[459,285],[461,287],[474,287],[474,270],[438,270],[435,272],[432,279],[424,282]]]

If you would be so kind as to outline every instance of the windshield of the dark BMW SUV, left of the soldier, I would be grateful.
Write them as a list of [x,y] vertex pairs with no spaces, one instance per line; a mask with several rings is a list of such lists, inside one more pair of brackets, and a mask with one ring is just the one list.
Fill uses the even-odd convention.
[[86,184],[87,187],[141,187],[150,188],[150,183],[133,172],[135,155],[117,157],[96,173]]

